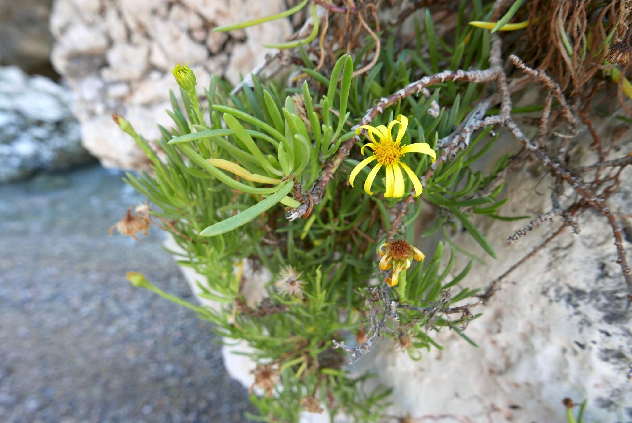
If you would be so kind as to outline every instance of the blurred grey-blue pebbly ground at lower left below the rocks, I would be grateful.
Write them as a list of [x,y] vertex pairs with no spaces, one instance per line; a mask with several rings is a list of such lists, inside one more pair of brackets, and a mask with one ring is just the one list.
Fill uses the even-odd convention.
[[195,301],[159,230],[108,236],[140,201],[97,166],[0,186],[0,421],[245,421],[209,324],[125,280]]

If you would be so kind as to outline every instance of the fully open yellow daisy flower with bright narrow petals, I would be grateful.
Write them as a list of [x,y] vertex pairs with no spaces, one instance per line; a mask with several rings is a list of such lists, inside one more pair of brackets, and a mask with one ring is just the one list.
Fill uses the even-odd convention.
[[[396,139],[393,141],[391,131],[396,124],[399,124],[399,130]],[[408,118],[404,115],[399,115],[396,120],[389,123],[388,128],[384,125],[379,125],[378,127],[362,125],[356,129],[356,135],[360,134],[360,130],[366,129],[368,136],[372,141],[364,144],[360,152],[364,155],[364,148],[368,147],[373,150],[373,155],[360,161],[360,164],[351,171],[351,175],[349,175],[349,184],[351,184],[352,187],[353,180],[355,180],[355,177],[360,173],[360,170],[368,165],[368,163],[377,160],[377,166],[369,172],[367,180],[364,183],[364,191],[366,191],[367,194],[373,194],[371,192],[371,185],[373,184],[375,175],[377,175],[377,172],[382,166],[386,167],[385,197],[398,198],[404,195],[404,175],[401,172],[402,168],[406,171],[406,174],[408,174],[408,177],[413,182],[413,187],[415,187],[415,197],[422,193],[422,183],[419,181],[417,175],[415,175],[415,172],[413,172],[410,167],[406,166],[406,163],[399,161],[399,159],[401,159],[401,156],[406,153],[422,153],[432,157],[432,161],[434,162],[437,159],[437,153],[435,153],[435,151],[430,148],[430,145],[425,142],[415,142],[415,144],[400,146],[399,142],[401,142],[401,139],[404,137],[406,128],[408,128]],[[377,136],[379,141],[375,141],[374,135]]]

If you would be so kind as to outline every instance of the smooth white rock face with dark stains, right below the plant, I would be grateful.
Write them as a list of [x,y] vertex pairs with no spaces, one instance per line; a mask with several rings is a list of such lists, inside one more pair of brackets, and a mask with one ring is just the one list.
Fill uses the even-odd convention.
[[[600,134],[612,134],[620,123],[606,120],[598,130]],[[628,139],[631,134],[632,129],[628,129]],[[588,145],[588,137],[585,131],[577,142]],[[501,141],[506,141],[506,146],[516,145],[506,135]],[[623,156],[631,146],[628,141],[612,158]],[[582,154],[581,149],[578,151]],[[595,160],[593,153],[574,158],[576,164]],[[539,169],[539,165],[525,168],[507,181],[505,195],[510,200],[501,208],[501,215],[537,216],[552,208],[552,180],[540,180]],[[632,167],[628,167],[621,177],[621,190],[607,201],[611,210],[629,213],[632,209],[631,178]],[[566,191],[565,195],[573,194]],[[556,218],[507,246],[507,237],[528,220],[478,218],[475,222],[494,245],[498,260],[485,257],[467,232],[456,231],[454,241],[488,263],[487,267],[475,265],[462,282],[463,287],[471,288],[487,286],[561,225]],[[444,350],[424,351],[422,360],[415,362],[384,339],[351,369],[377,373],[376,383],[394,389],[391,415],[454,414],[468,422],[562,422],[562,399],[568,397],[577,403],[588,400],[586,422],[632,422],[632,381],[626,377],[628,363],[632,362],[632,307],[626,298],[621,268],[616,264],[612,230],[605,218],[592,211],[583,213],[579,222],[580,234],[565,229],[507,276],[485,305],[475,309],[483,316],[470,323],[466,334],[478,348],[454,332],[431,332]],[[630,251],[632,227],[626,222],[621,225],[628,234],[625,244]],[[434,244],[421,246],[434,251]],[[458,261],[453,275],[467,262],[462,256]],[[186,272],[188,279],[195,279],[189,268]],[[201,279],[199,275],[197,278]],[[458,291],[453,287],[454,293]],[[234,348],[243,351],[248,346]],[[228,347],[223,351],[229,374],[249,386],[254,364],[231,351]],[[301,421],[327,422],[329,418],[305,414]]]

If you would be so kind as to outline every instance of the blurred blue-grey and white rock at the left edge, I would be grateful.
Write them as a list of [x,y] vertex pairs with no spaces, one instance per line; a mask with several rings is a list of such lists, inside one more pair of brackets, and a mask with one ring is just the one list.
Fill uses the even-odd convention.
[[71,99],[70,89],[47,77],[0,68],[0,183],[92,160]]

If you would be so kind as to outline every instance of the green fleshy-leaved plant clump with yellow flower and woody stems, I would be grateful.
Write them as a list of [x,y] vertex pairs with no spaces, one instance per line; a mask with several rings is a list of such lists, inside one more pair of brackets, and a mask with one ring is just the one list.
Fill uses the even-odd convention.
[[[226,343],[250,346],[251,393],[265,395],[251,395],[259,415],[249,418],[295,422],[325,407],[378,422],[387,418],[391,387],[366,388],[372,375],[353,374],[346,363],[380,342],[421,360],[440,347],[442,331],[475,346],[466,329],[481,315],[477,307],[533,255],[471,289],[470,270],[482,256],[497,257],[497,240],[483,235],[481,222],[530,220],[507,234],[512,244],[559,220],[542,248],[563,232],[579,234],[582,213],[599,213],[615,240],[620,288],[632,300],[620,218],[604,206],[632,157],[611,159],[617,140],[602,140],[591,120],[598,87],[632,98],[623,64],[629,2],[414,1],[385,22],[382,11],[396,3],[303,0],[279,15],[215,28],[298,14],[305,22],[234,86],[214,75],[200,87],[188,66],[176,66],[173,123],[159,126],[155,146],[114,116],[152,172],[126,174],[151,207],[128,210],[111,230],[136,239],[150,225],[169,232],[179,263],[199,276],[200,297],[218,306],[128,277],[193,310]],[[280,71],[266,74],[275,61]],[[513,93],[526,85],[541,95],[516,108]],[[581,125],[595,155],[584,167],[569,160]],[[501,132],[509,141],[497,143]],[[538,217],[503,208],[504,183],[525,163],[554,180],[550,210]],[[424,218],[422,209],[430,210]],[[456,230],[477,249],[456,243]],[[260,301],[248,296],[256,278],[246,262],[258,277],[271,274],[258,282]]]

